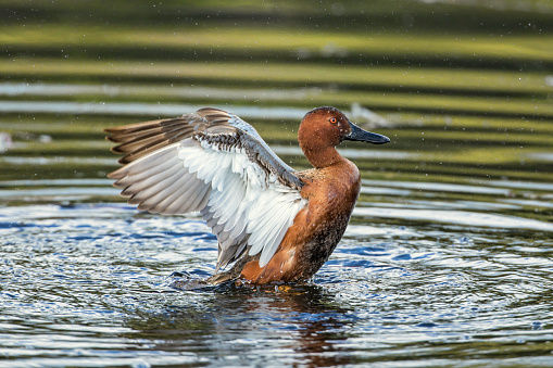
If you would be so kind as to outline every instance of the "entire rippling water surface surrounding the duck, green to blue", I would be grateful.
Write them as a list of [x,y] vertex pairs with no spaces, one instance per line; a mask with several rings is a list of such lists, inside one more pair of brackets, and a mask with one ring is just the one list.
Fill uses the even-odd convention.
[[[4,5],[1,367],[553,365],[551,7],[123,3]],[[216,239],[124,204],[102,129],[218,106],[303,169],[322,104],[392,139],[340,147],[363,187],[327,264],[176,288]]]

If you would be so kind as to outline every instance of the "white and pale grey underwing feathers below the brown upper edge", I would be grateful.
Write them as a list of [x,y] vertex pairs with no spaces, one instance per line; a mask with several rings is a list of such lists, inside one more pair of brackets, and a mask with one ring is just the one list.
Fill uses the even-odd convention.
[[[268,150],[256,132],[252,136]],[[117,185],[126,186],[123,194],[142,211],[200,211],[219,241],[217,269],[247,248],[250,255],[261,252],[264,267],[306,201],[298,188],[281,183],[249,157],[246,148],[222,147],[203,137],[186,138],[127,164]]]

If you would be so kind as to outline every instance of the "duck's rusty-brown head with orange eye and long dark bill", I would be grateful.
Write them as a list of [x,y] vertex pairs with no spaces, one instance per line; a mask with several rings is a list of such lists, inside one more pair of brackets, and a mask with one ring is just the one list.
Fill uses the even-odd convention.
[[[382,144],[390,141],[386,136],[361,129],[336,107],[322,106],[313,109],[303,116],[298,130],[298,141],[303,153],[315,167],[331,164],[334,158],[329,157],[329,149],[332,151],[343,140],[373,144]],[[318,163],[319,161],[325,163]]]

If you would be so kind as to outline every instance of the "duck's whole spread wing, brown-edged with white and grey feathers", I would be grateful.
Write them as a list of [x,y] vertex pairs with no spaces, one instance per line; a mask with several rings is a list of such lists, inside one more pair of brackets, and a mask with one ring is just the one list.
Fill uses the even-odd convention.
[[201,109],[183,117],[105,129],[126,164],[109,175],[138,210],[199,211],[218,239],[217,268],[243,252],[275,254],[306,205],[302,181],[238,116]]

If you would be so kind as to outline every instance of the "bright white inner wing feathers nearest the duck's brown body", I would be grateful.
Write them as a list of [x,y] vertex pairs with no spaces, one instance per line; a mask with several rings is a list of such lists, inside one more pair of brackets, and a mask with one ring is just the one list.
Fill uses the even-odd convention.
[[[211,185],[210,210],[204,217],[214,229],[222,226],[217,236],[240,239],[243,232],[250,234],[249,254],[261,252],[260,267],[264,267],[305,201],[297,189],[280,183],[276,175],[250,161],[243,149],[224,151],[205,141],[192,142],[180,144],[178,157],[198,179]],[[223,254],[239,245],[227,239],[221,244]]]

